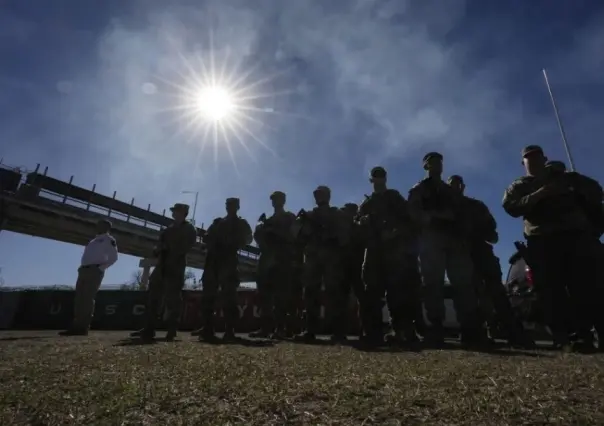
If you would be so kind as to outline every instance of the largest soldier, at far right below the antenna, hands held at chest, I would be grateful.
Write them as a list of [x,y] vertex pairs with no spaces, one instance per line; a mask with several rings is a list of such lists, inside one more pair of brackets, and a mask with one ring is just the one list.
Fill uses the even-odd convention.
[[[527,262],[545,322],[554,344],[570,351],[569,330],[584,333],[579,338],[593,346],[593,336],[587,330],[592,324],[602,329],[601,294],[593,286],[594,277],[600,276],[601,248],[581,202],[591,198],[581,185],[584,179],[578,174],[551,173],[546,161],[541,147],[523,149],[526,176],[506,190],[503,208],[510,216],[524,219]],[[600,200],[601,191],[601,187],[596,191]]]

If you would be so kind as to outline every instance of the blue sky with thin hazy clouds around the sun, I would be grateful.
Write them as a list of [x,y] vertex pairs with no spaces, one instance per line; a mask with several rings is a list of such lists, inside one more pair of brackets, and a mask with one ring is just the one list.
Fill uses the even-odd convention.
[[[247,150],[227,134],[216,156],[211,144],[200,155],[203,131],[185,127],[190,110],[174,110],[173,85],[192,87],[210,46],[216,69],[247,75]],[[198,223],[222,215],[230,196],[253,223],[275,189],[294,211],[312,206],[319,184],[334,204],[360,201],[377,164],[406,194],[422,156],[438,150],[445,173],[463,175],[492,209],[505,265],[521,224],[500,203],[523,173],[520,150],[537,143],[565,159],[543,67],[577,168],[604,178],[597,0],[8,0],[0,55],[4,162],[42,163],[156,211],[199,191]],[[10,285],[72,284],[81,251],[0,233]],[[137,263],[122,256],[105,283],[128,280]]]

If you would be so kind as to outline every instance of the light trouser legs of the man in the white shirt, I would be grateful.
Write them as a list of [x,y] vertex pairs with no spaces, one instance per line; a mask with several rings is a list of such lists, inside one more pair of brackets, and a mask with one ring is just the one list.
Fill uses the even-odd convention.
[[94,299],[104,273],[96,267],[80,268],[76,282],[72,331],[88,332],[94,314]]

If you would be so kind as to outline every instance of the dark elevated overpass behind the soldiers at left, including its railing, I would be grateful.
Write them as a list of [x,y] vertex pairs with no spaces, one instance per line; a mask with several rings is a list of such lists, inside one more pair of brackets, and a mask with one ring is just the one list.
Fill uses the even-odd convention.
[[[173,220],[116,198],[95,192],[69,182],[47,176],[46,168],[33,172],[0,166],[0,230],[47,238],[64,243],[86,245],[95,235],[96,222],[110,219],[112,234],[120,253],[140,257],[143,278],[155,265],[151,258],[161,229]],[[198,228],[198,231],[201,231]],[[239,252],[242,281],[255,281],[259,251],[248,246]],[[206,259],[205,245],[198,239],[187,258],[188,266],[203,269]]]

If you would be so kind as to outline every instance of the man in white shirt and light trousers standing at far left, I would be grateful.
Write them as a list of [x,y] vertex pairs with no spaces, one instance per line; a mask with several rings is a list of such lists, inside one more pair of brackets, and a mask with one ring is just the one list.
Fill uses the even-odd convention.
[[78,281],[73,305],[71,328],[61,332],[62,336],[85,336],[94,314],[94,299],[101,286],[105,270],[117,261],[117,243],[109,234],[111,222],[97,223],[97,235],[84,249],[78,268]]

